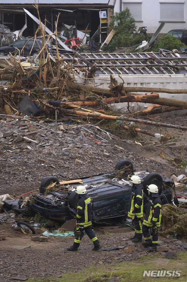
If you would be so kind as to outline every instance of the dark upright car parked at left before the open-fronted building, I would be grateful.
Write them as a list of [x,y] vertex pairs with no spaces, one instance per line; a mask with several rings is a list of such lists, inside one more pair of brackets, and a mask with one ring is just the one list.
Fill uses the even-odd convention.
[[36,56],[38,55],[38,53],[40,52],[42,48],[42,41],[36,39],[33,47],[32,47],[33,42],[34,42],[33,39],[28,42],[27,41],[28,39],[22,39],[22,40],[13,42],[9,46],[0,47],[0,55],[6,56],[9,53],[11,53],[13,56],[16,54],[19,55],[18,50],[16,48],[18,48],[21,51],[23,46],[26,43],[23,49],[23,52],[20,53],[20,55],[24,57],[33,56],[34,58],[36,58]]

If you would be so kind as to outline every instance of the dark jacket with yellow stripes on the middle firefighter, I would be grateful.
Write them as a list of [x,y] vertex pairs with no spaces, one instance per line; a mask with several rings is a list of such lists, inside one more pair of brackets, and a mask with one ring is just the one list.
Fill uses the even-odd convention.
[[134,186],[128,209],[128,217],[133,218],[135,214],[138,218],[143,217],[143,189],[140,183]]

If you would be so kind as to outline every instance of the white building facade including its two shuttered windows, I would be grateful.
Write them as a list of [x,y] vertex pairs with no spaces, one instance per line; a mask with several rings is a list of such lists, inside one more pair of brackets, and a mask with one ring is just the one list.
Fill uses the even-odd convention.
[[114,13],[129,8],[137,30],[147,26],[147,33],[154,33],[161,22],[166,24],[161,33],[171,29],[187,29],[187,1],[176,0],[116,0]]

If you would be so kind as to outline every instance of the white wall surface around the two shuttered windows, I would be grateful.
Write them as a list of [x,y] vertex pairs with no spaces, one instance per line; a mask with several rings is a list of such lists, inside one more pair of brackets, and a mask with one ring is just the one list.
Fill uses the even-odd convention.
[[[154,33],[159,25],[160,21],[160,2],[164,3],[183,3],[184,2],[184,21],[185,22],[166,22],[164,28],[161,33],[167,33],[171,29],[187,29],[187,0],[179,1],[179,0],[122,0],[127,3],[132,2],[142,2],[142,22],[136,21],[137,30],[140,26],[147,26],[147,33]],[[123,2],[123,3],[124,3]],[[123,9],[122,3],[122,9]],[[114,12],[120,12],[121,0],[116,0],[116,4],[114,7]],[[172,19],[171,19],[172,20]]]

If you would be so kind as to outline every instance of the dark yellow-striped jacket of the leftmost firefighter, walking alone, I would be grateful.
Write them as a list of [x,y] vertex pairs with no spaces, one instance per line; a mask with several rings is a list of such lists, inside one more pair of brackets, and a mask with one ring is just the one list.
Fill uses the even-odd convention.
[[82,194],[79,196],[80,199],[78,200],[76,219],[79,224],[79,228],[88,227],[92,225],[91,199],[88,198],[87,194]]

